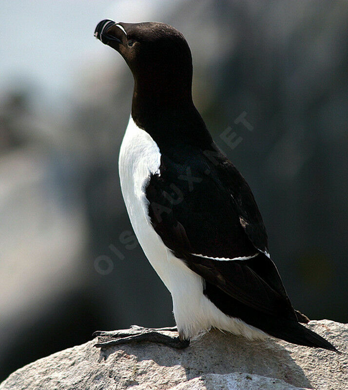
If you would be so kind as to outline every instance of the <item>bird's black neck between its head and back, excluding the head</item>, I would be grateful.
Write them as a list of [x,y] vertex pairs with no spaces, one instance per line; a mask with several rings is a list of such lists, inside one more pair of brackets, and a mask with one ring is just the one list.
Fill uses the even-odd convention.
[[191,85],[135,80],[132,117],[157,145],[188,143],[206,145],[212,138],[192,100]]

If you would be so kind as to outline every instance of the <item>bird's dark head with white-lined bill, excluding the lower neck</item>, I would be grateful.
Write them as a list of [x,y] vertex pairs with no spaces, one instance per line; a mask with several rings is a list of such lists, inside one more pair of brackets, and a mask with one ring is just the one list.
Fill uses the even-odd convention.
[[[181,98],[191,97],[192,57],[184,36],[160,22],[116,23],[102,20],[95,37],[112,47],[127,62],[135,78],[135,87],[154,91],[176,91]],[[155,91],[154,91],[155,92]],[[148,95],[149,96],[149,95]]]

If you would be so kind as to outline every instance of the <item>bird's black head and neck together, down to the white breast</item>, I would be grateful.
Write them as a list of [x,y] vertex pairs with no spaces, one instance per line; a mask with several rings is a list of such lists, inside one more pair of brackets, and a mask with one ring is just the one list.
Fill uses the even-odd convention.
[[102,20],[94,35],[120,53],[133,73],[138,127],[159,147],[180,140],[210,147],[212,137],[192,100],[191,50],[179,31],[160,22]]

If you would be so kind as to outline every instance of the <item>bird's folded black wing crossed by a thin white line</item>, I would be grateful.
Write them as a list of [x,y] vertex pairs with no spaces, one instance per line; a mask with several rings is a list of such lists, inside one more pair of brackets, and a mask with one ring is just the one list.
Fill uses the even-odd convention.
[[162,155],[160,172],[145,186],[156,233],[223,292],[258,311],[294,317],[264,254],[267,234],[248,184],[225,156],[217,154],[213,163],[202,151],[185,148]]

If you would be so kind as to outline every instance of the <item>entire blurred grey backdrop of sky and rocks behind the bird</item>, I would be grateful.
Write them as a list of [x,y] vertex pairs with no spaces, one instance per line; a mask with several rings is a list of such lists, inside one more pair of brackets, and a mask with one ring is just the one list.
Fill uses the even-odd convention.
[[93,37],[106,18],[185,35],[195,104],[253,190],[294,307],[348,321],[347,1],[0,5],[0,380],[95,330],[174,324],[120,192],[133,78]]

